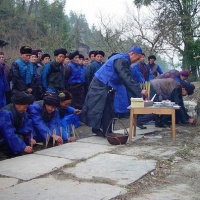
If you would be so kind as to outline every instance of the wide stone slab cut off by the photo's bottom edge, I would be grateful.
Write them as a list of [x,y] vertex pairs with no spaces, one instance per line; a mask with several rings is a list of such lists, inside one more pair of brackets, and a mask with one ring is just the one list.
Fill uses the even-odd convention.
[[126,189],[102,183],[58,180],[53,176],[24,182],[0,192],[3,200],[108,200],[126,193]]

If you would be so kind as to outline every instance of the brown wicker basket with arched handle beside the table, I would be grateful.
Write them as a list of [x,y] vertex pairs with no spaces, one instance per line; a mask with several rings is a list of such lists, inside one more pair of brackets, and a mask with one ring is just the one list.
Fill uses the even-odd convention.
[[[113,122],[115,120],[118,120],[122,126],[124,127],[124,130],[125,130],[125,134],[121,134],[121,133],[108,133],[108,130],[109,130],[109,127],[112,123],[112,127],[113,127]],[[114,129],[114,128],[113,128]],[[128,131],[126,129],[126,127],[124,126],[124,124],[118,119],[118,118],[113,118],[109,125],[108,125],[108,129],[107,129],[107,132],[106,132],[106,138],[108,140],[108,142],[112,145],[121,145],[121,144],[126,144],[127,140],[128,140]]]

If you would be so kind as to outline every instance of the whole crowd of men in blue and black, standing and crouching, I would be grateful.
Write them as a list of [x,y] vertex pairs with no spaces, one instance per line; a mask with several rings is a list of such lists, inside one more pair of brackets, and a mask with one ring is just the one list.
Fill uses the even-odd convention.
[[[89,57],[89,58],[88,58]],[[80,121],[97,136],[106,136],[116,113],[129,112],[131,97],[171,100],[180,105],[177,123],[194,123],[184,107],[184,95],[191,95],[194,85],[186,79],[188,70],[162,72],[155,55],[148,57],[139,46],[128,52],[112,53],[104,62],[105,53],[91,51],[84,57],[79,51],[68,53],[60,48],[54,58],[30,46],[20,48],[20,57],[10,67],[0,52],[0,149],[14,155],[32,153],[33,146],[49,141],[54,145],[74,142],[72,129]],[[140,87],[150,82],[151,93]],[[155,118],[163,126],[167,118]],[[149,120],[140,115],[138,126]]]

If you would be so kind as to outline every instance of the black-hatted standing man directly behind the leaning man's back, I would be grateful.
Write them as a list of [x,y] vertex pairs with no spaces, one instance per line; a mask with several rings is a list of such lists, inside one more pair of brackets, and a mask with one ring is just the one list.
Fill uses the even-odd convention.
[[87,89],[89,88],[89,85],[94,77],[95,72],[97,72],[100,69],[100,67],[104,64],[103,62],[104,56],[105,53],[103,51],[94,52],[95,60],[87,67],[85,71],[85,83]]

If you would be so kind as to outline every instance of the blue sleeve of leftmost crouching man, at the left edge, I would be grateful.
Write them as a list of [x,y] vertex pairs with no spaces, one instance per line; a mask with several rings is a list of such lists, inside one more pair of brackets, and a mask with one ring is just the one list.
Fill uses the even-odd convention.
[[21,153],[25,149],[26,144],[18,137],[13,126],[12,113],[7,110],[3,110],[0,113],[0,132],[14,155]]

